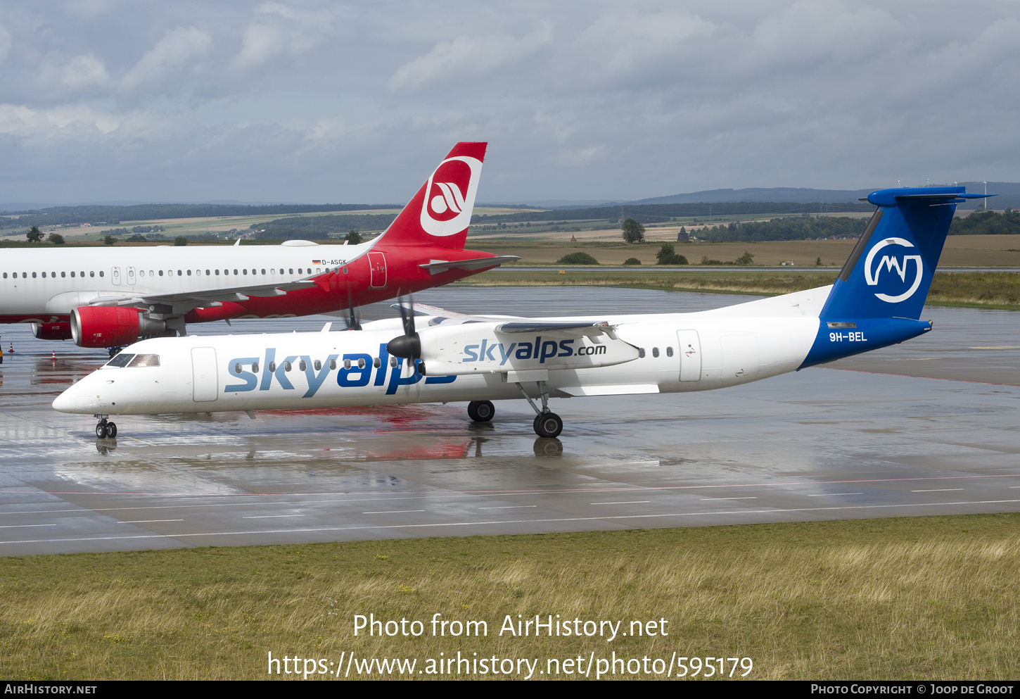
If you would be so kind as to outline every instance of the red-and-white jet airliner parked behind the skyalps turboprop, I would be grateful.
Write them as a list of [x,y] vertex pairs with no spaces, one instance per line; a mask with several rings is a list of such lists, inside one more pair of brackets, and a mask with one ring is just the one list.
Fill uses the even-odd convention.
[[454,146],[390,228],[360,245],[7,250],[0,322],[114,347],[185,335],[189,322],[336,313],[491,269],[517,258],[464,249],[486,146]]

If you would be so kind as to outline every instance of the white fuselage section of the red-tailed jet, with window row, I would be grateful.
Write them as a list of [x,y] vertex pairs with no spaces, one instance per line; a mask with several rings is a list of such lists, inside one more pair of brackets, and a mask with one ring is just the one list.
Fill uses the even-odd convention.
[[370,247],[295,243],[8,249],[0,256],[0,318],[46,322],[103,298],[286,284],[343,266]]

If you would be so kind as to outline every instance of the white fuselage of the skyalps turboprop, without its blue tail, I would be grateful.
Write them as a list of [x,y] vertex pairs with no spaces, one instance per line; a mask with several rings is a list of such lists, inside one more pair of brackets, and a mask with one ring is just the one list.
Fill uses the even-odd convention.
[[[368,323],[360,332],[156,338],[122,353],[158,355],[158,366],[101,367],[53,406],[85,414],[145,414],[520,399],[520,388],[539,395],[537,381],[546,382],[553,398],[718,389],[801,366],[818,333],[818,309],[828,291],[698,313],[590,315],[582,319],[608,321],[622,341],[617,344],[636,350],[629,355],[634,358],[588,368],[548,369],[544,365],[553,362],[545,357],[541,362],[521,358],[507,349],[509,340],[518,348],[527,344],[528,353],[533,344],[536,354],[540,345],[551,343],[520,336],[508,338],[499,351],[489,350],[498,364],[492,370],[431,376],[426,360],[428,376],[422,377],[386,350],[402,333],[396,319]],[[578,355],[595,354],[601,341],[570,342],[561,341],[557,351],[566,346]],[[469,362],[472,352],[478,354],[475,345],[470,347],[447,361]]]

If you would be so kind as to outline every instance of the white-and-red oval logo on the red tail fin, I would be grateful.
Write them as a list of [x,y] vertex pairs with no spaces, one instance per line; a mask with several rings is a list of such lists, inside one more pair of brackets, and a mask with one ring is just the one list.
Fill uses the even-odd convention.
[[444,160],[428,178],[421,228],[430,236],[452,236],[471,222],[481,161],[467,156]]

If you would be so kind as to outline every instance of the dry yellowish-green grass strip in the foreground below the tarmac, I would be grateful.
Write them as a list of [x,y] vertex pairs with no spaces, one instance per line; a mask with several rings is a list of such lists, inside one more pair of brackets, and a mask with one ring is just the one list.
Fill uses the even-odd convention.
[[[749,679],[1016,678],[1018,544],[1020,515],[985,514],[5,558],[0,678],[253,680],[269,652],[422,669],[458,650],[543,669],[675,651],[749,657]],[[432,637],[436,613],[489,633]],[[424,633],[355,638],[356,614]],[[501,636],[508,614],[657,633]]]

